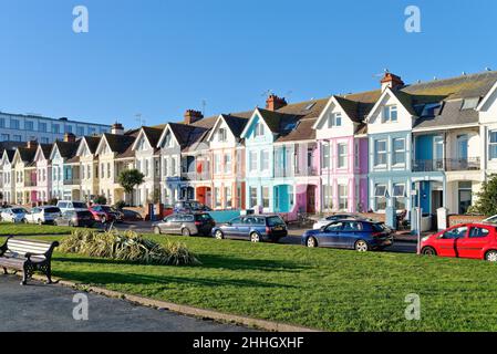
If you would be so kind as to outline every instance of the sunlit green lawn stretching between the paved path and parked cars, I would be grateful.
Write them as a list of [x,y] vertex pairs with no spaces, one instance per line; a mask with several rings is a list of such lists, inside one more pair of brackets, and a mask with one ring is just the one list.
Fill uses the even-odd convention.
[[[172,239],[187,243],[203,266],[136,266],[56,253],[53,271],[111,290],[328,331],[497,330],[497,264]],[[421,321],[405,320],[410,293],[421,296]]]

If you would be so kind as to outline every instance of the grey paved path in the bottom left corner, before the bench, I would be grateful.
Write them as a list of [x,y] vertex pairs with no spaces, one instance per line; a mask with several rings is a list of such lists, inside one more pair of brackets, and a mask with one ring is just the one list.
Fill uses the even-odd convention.
[[13,275],[0,275],[0,332],[4,331],[110,331],[110,332],[238,332],[241,326],[203,321],[169,311],[137,306],[97,294],[89,296],[89,321],[72,316],[77,292],[62,285],[19,284]]

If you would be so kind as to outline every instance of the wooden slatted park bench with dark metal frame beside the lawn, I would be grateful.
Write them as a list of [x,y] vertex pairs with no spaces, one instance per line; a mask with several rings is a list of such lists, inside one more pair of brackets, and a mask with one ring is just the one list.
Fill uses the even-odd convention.
[[25,285],[35,271],[46,275],[46,283],[52,283],[52,253],[59,242],[44,242],[38,240],[25,240],[8,238],[0,247],[0,267],[3,273],[7,269],[22,271],[21,285]]

